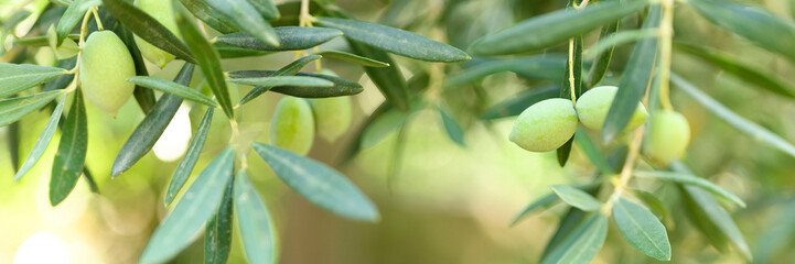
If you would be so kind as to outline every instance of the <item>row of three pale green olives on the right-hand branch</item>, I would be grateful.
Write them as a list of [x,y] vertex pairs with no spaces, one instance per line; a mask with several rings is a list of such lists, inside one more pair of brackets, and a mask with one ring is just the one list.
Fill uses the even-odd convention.
[[[509,140],[531,152],[554,151],[562,146],[577,131],[578,122],[601,131],[619,88],[594,87],[583,94],[577,106],[562,98],[537,102],[523,111],[511,131]],[[634,130],[648,119],[646,108],[637,103],[625,131]],[[678,112],[655,113],[646,151],[649,156],[667,163],[681,157],[690,139],[687,120]]]

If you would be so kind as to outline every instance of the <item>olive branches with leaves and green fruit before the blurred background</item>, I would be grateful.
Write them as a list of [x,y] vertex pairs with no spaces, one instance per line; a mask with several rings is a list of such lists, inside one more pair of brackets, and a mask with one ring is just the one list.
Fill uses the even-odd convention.
[[[346,128],[334,124],[350,123],[350,117],[336,119],[339,114],[330,116],[329,111],[350,111],[345,98],[363,90],[356,81],[323,70],[320,67],[323,59],[361,65],[386,98],[351,132],[354,140],[342,163],[397,132],[390,169],[390,175],[395,175],[400,167],[405,128],[417,112],[429,109],[438,112],[450,139],[464,147],[465,128],[491,127],[496,119],[517,116],[511,135],[501,136],[520,147],[555,151],[562,167],[577,145],[573,150],[581,151],[592,165],[592,179],[572,186],[550,186],[549,194],[520,210],[512,223],[560,201],[568,206],[540,263],[590,263],[608,238],[610,219],[637,251],[669,261],[677,249],[672,246],[674,237],[668,229],[674,219],[679,219],[673,217],[679,210],[672,208],[681,208],[687,220],[716,249],[727,252],[731,245],[752,260],[752,250],[730,216],[731,210],[745,208],[745,202],[696,176],[683,161],[690,143],[690,124],[674,109],[672,84],[740,132],[795,156],[793,144],[734,113],[672,72],[676,65],[672,54],[677,51],[765,91],[795,98],[795,91],[778,76],[744,66],[713,47],[676,37],[676,11],[691,9],[718,28],[795,61],[792,48],[795,23],[748,3],[585,0],[541,4],[505,0],[497,2],[515,8],[508,9],[513,10],[512,15],[501,15],[496,9],[481,9],[462,0],[444,1],[441,11],[422,8],[425,1],[406,0],[390,1],[380,23],[370,23],[356,20],[333,0],[281,4],[270,0],[51,2],[30,32],[10,36],[11,48],[3,51],[0,64],[3,98],[0,125],[12,131],[9,144],[12,153],[17,153],[13,135],[19,131],[18,121],[40,109],[52,112],[31,153],[24,160],[14,157],[14,165],[23,161],[15,168],[14,180],[36,164],[53,135],[61,131],[50,183],[51,204],[57,206],[66,199],[79,177],[96,190],[93,177],[107,175],[92,175],[84,166],[88,136],[86,103],[98,105],[115,114],[126,98],[132,97],[147,114],[119,151],[110,177],[123,177],[152,148],[183,100],[206,108],[166,190],[165,205],[174,202],[173,210],[141,253],[142,263],[168,262],[190,245],[203,228],[205,261],[224,263],[233,222],[240,228],[251,263],[277,261],[276,227],[248,179],[249,173],[259,173],[248,169],[251,152],[314,205],[352,220],[379,219],[374,204],[345,176],[304,156],[315,130],[326,140],[344,133]],[[401,13],[412,13],[412,18],[398,19]],[[3,21],[0,36],[8,37],[7,33],[29,15],[26,10],[10,15]],[[496,19],[486,22],[483,18],[487,16]],[[219,35],[210,37],[205,26]],[[450,44],[405,31],[437,26],[445,30]],[[588,36],[597,35],[595,41],[585,45]],[[334,38],[344,38],[350,51],[316,48]],[[101,48],[92,48],[95,42]],[[632,46],[629,57],[614,57],[617,46]],[[25,54],[37,48],[52,48],[60,59],[57,67],[25,64],[30,62]],[[221,65],[225,58],[279,52],[296,52],[297,59],[275,70],[226,72]],[[410,66],[410,79],[404,78],[401,70],[407,67],[401,69],[394,55],[410,59],[406,62],[411,65],[404,65]],[[172,59],[185,63],[173,80],[166,80],[150,77],[144,59],[160,67]],[[114,63],[122,67],[108,70],[98,66]],[[316,73],[301,72],[311,64],[318,66]],[[195,69],[202,72],[211,94],[187,86]],[[528,89],[491,103],[484,78],[505,72],[516,74]],[[255,88],[239,101],[232,101],[236,99],[229,94],[233,84]],[[155,98],[154,90],[163,96]],[[270,143],[245,141],[239,136],[236,112],[245,110],[241,106],[253,99],[272,92],[291,97],[277,107]],[[228,119],[232,139],[185,187],[203,154],[210,127],[226,125],[211,122],[214,114]],[[332,118],[334,121],[327,121]],[[642,186],[634,184],[636,179],[659,182],[664,185],[656,186],[676,189],[678,198],[672,201],[663,197],[662,187],[636,187]],[[181,191],[184,195],[176,199]]]

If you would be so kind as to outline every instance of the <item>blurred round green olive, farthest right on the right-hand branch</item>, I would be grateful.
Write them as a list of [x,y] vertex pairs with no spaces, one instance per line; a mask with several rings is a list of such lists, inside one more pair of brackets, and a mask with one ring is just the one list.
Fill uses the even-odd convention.
[[690,124],[679,112],[657,111],[652,117],[652,131],[648,135],[646,154],[668,164],[685,155],[690,143]]

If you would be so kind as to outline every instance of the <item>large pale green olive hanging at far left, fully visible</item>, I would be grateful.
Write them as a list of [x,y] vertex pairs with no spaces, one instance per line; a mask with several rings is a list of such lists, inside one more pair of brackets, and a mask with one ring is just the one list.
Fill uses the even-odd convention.
[[79,65],[80,89],[90,100],[116,117],[119,108],[130,99],[136,86],[127,79],[136,76],[132,56],[112,31],[88,35]]

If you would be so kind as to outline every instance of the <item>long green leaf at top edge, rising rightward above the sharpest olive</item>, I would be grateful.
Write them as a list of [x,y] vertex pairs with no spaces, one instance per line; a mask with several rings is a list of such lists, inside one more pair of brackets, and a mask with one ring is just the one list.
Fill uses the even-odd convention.
[[534,16],[481,37],[469,51],[479,56],[538,51],[637,12],[647,4],[646,0],[597,2],[579,10],[560,10]]

